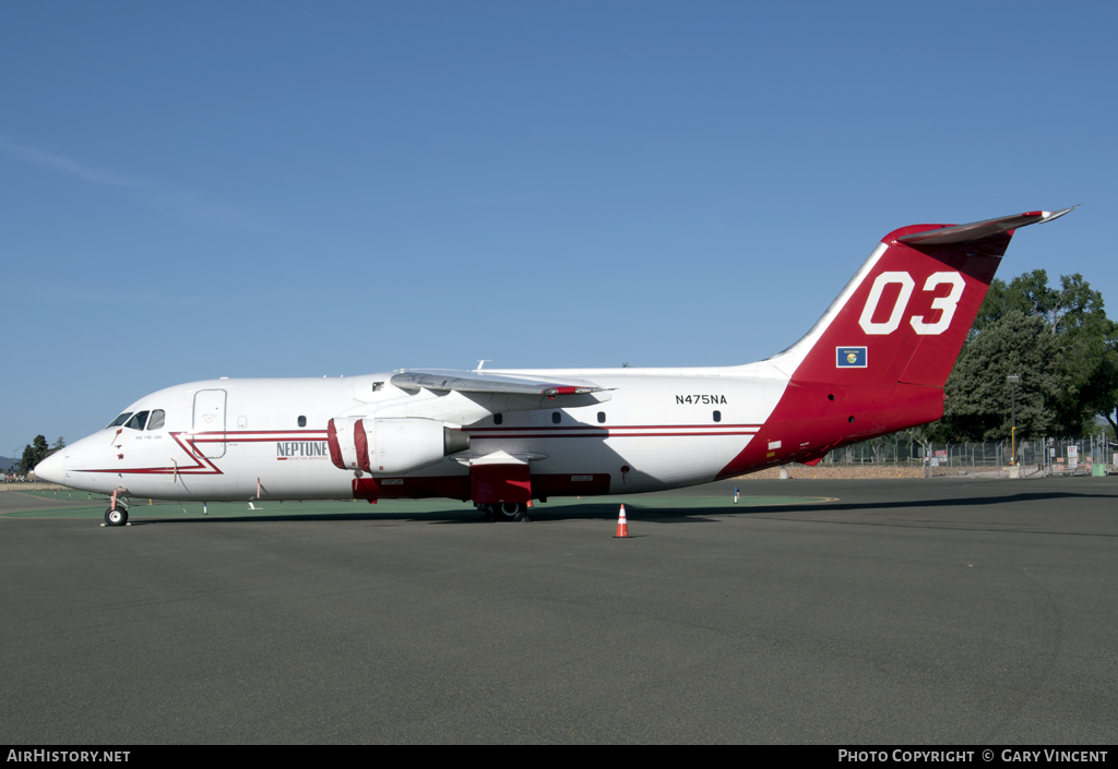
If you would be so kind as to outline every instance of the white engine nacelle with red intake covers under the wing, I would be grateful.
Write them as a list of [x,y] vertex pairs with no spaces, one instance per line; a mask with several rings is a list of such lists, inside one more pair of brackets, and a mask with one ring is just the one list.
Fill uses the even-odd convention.
[[339,417],[326,425],[330,459],[341,469],[401,475],[470,448],[470,436],[433,419]]

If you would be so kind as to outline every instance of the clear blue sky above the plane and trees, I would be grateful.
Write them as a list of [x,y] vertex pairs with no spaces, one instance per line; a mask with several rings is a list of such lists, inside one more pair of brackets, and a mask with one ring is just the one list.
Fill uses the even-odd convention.
[[888,231],[1083,202],[1114,3],[0,4],[0,455],[211,377],[735,364]]

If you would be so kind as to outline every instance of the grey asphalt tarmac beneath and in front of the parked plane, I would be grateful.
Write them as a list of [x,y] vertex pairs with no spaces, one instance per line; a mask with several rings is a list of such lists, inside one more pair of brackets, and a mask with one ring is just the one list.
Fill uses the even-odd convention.
[[1118,477],[733,485],[504,524],[0,494],[0,734],[1118,740]]

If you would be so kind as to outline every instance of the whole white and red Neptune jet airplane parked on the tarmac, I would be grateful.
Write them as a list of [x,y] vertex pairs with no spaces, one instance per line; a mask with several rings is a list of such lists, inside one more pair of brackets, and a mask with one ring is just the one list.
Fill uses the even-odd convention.
[[887,235],[790,348],[728,368],[400,370],[168,388],[35,468],[129,499],[530,500],[651,492],[934,421],[1013,232],[1062,211]]

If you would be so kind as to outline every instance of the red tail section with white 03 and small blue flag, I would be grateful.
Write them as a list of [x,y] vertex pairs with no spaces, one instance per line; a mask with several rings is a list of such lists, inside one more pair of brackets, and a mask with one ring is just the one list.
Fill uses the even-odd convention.
[[1015,228],[1071,209],[890,232],[823,317],[768,359],[789,378],[765,426],[719,477],[813,462],[944,415],[944,385]]

